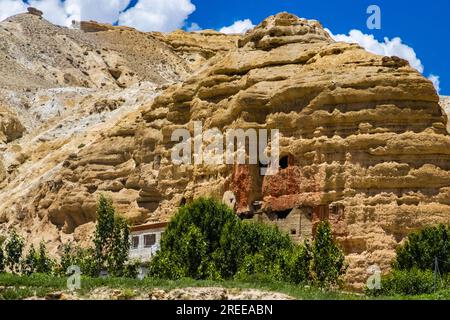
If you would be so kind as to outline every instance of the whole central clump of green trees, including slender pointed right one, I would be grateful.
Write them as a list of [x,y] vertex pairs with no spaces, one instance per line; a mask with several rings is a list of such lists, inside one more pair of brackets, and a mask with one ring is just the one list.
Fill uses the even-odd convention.
[[258,277],[333,286],[345,269],[328,222],[319,224],[312,244],[296,245],[274,226],[241,221],[226,205],[200,198],[171,220],[149,271],[166,279]]

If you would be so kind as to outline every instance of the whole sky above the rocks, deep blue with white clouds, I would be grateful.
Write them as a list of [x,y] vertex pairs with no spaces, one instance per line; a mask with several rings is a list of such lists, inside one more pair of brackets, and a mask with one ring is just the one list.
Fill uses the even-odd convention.
[[[407,59],[439,85],[442,95],[450,95],[449,0],[0,0],[0,21],[29,5],[55,24],[96,20],[162,32],[202,28],[240,33],[288,11],[319,20],[338,41]],[[370,5],[381,9],[380,30],[367,28]]]

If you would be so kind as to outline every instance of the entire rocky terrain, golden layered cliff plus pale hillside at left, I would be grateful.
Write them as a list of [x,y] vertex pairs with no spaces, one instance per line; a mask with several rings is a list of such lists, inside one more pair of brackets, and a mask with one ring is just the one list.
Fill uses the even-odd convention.
[[[2,231],[19,227],[57,251],[86,239],[100,193],[134,223],[165,221],[185,201],[227,193],[237,214],[299,239],[329,219],[348,281],[360,287],[368,266],[388,270],[409,232],[450,217],[447,117],[407,61],[336,43],[319,22],[287,13],[239,39],[92,22],[68,30],[22,15],[1,24],[10,32],[2,55],[45,43],[27,40],[28,24],[61,35],[55,43],[66,49],[24,51],[5,71],[15,87],[0,95]],[[51,71],[13,81],[38,70]],[[262,177],[258,165],[174,165],[171,134],[194,121],[222,132],[279,129],[286,166]]]

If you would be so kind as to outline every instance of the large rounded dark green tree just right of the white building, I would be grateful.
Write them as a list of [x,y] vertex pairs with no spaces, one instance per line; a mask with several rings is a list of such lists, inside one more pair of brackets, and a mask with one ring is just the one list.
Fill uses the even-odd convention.
[[239,226],[236,215],[216,201],[198,199],[181,207],[164,232],[149,273],[169,279],[230,278],[238,267],[230,255],[239,257],[241,248],[232,240]]

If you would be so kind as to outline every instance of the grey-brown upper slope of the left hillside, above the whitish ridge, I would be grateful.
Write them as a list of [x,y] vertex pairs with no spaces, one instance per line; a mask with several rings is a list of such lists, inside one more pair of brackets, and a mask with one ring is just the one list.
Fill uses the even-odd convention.
[[2,21],[0,88],[111,90],[174,83],[193,70],[151,34],[96,22],[82,22],[80,28],[55,26],[34,14]]

